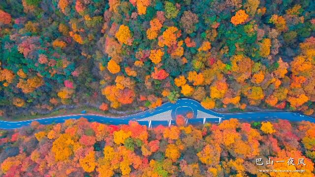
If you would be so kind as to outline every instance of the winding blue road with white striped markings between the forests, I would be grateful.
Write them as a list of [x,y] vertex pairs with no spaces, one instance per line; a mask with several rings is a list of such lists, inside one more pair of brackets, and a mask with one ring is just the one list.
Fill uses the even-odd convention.
[[212,110],[205,109],[201,104],[190,98],[180,98],[176,103],[164,103],[161,106],[137,114],[110,117],[94,114],[78,114],[66,115],[50,118],[37,118],[23,121],[2,121],[0,120],[0,129],[15,129],[31,124],[36,120],[41,124],[62,123],[66,119],[87,118],[89,121],[97,121],[109,124],[127,124],[129,120],[138,121],[141,125],[150,127],[175,124],[176,115],[183,115],[188,112],[193,113],[193,117],[186,119],[189,124],[202,124],[205,122],[220,123],[222,120],[230,118],[238,118],[240,121],[274,121],[276,119],[287,119],[290,121],[310,121],[315,122],[315,118],[309,117],[296,112],[242,112],[242,113],[217,113]]

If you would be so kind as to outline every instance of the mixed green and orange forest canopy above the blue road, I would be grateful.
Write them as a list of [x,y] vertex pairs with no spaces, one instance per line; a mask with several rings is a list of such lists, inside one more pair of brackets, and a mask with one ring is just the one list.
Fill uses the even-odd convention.
[[0,115],[77,105],[314,113],[313,0],[1,0]]

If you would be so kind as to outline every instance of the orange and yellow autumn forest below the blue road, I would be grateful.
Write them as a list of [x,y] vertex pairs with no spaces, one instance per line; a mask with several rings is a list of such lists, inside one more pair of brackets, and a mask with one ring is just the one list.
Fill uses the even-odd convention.
[[[230,119],[183,126],[179,116],[176,124],[147,129],[135,121],[116,126],[80,118],[1,130],[0,176],[314,177],[314,123]],[[257,171],[266,169],[303,173]]]

